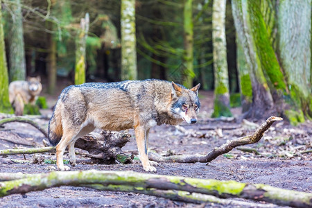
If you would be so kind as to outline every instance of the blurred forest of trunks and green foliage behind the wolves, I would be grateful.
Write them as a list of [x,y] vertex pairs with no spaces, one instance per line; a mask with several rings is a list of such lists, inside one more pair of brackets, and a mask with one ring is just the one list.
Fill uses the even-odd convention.
[[231,116],[239,93],[241,118],[311,119],[311,0],[4,0],[2,13],[9,80],[40,75],[50,94],[75,75],[201,83],[216,94],[214,116]]

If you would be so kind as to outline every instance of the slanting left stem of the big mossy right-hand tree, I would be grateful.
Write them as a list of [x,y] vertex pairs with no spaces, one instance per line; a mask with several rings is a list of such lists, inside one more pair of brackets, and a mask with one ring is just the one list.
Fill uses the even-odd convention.
[[[232,1],[232,10],[238,42],[243,47],[243,53],[252,83],[252,106],[250,107],[249,114],[246,114],[245,117],[260,119],[263,116],[271,114],[270,110],[272,110],[274,104],[268,83],[261,68],[260,58],[257,53],[257,43],[252,36],[248,1]],[[245,80],[241,80],[241,85],[248,85],[248,83],[245,83]]]

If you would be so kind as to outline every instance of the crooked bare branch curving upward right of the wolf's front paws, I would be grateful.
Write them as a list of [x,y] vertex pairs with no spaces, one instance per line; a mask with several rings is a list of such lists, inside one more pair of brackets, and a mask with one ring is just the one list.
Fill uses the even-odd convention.
[[173,155],[168,157],[162,157],[157,153],[149,153],[148,157],[150,160],[153,160],[155,162],[180,162],[180,163],[211,162],[212,160],[216,159],[216,157],[228,153],[230,150],[236,148],[237,146],[257,143],[262,138],[264,132],[266,132],[266,130],[268,130],[268,128],[270,128],[270,126],[275,121],[281,120],[283,119],[271,116],[252,135],[227,141],[226,144],[223,144],[223,146],[220,146],[218,148],[214,148],[214,150],[211,150],[207,155],[195,154],[195,155]]

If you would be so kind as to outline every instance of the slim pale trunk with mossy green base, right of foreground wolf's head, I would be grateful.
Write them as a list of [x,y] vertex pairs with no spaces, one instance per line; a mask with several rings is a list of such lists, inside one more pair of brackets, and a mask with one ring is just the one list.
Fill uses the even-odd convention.
[[214,46],[214,113],[212,117],[232,116],[229,110],[229,76],[225,40],[226,0],[214,0],[212,44]]

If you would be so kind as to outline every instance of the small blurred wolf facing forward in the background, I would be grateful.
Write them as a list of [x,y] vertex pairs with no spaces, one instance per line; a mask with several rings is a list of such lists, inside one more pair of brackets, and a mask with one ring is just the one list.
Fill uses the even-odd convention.
[[15,110],[15,115],[22,116],[24,104],[35,105],[38,95],[42,91],[41,78],[28,77],[26,81],[17,80],[9,85],[9,100]]

